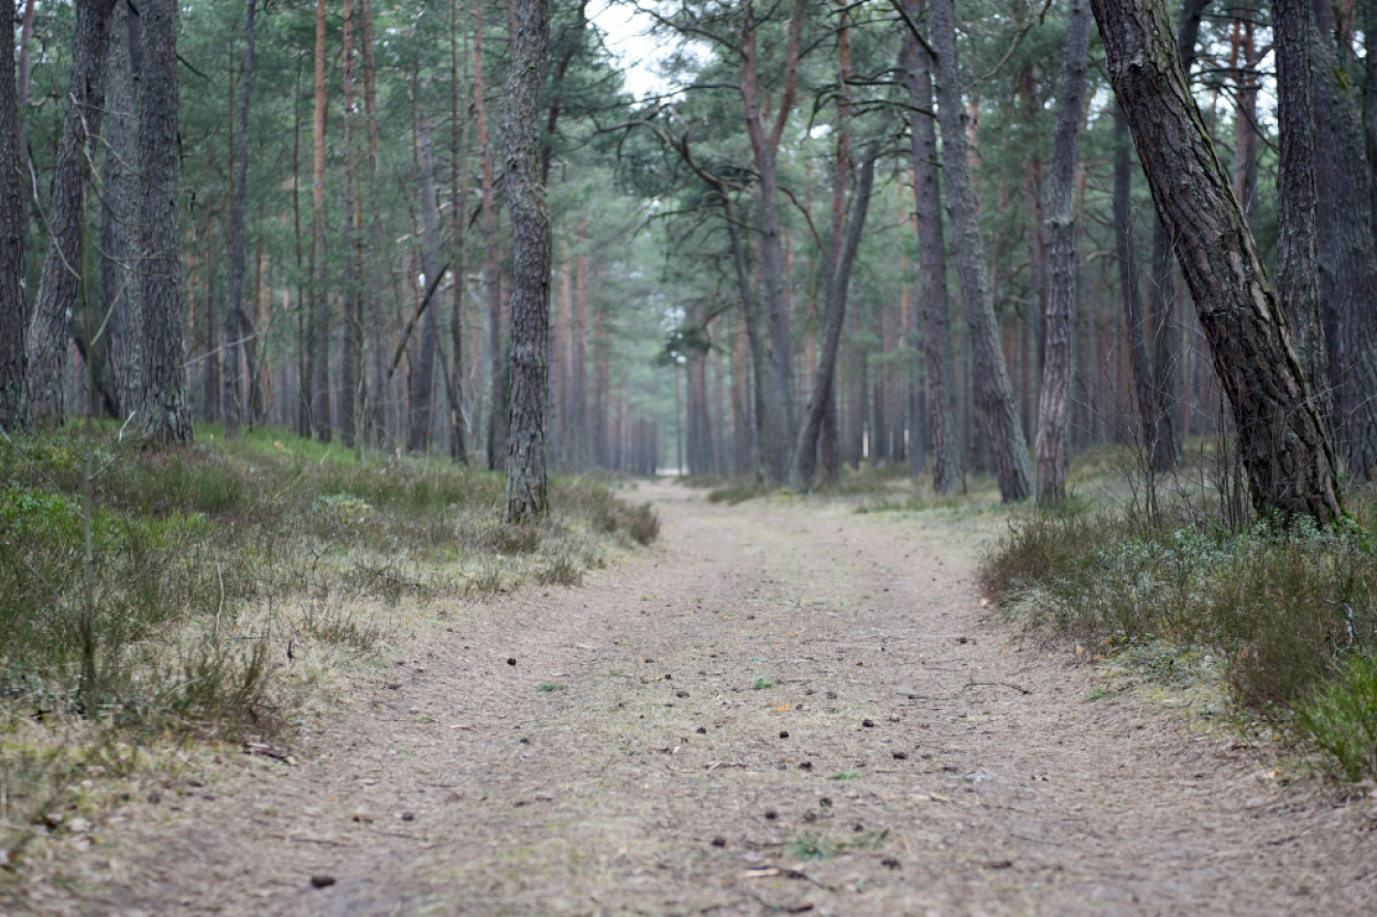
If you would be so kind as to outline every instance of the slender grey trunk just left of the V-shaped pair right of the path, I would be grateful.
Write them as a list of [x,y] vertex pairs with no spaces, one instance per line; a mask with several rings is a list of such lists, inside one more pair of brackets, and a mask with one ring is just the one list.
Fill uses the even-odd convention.
[[[925,3],[916,3],[914,14]],[[946,245],[942,241],[942,193],[938,182],[938,134],[932,117],[932,56],[910,41],[909,121],[913,146],[913,205],[918,235],[918,319],[923,328],[923,362],[927,368],[928,447],[932,452],[932,492],[957,489],[961,468],[956,458],[956,423],[952,420],[952,332],[947,326]]]

